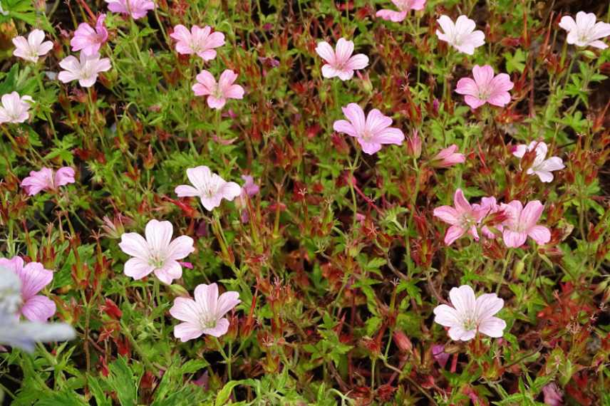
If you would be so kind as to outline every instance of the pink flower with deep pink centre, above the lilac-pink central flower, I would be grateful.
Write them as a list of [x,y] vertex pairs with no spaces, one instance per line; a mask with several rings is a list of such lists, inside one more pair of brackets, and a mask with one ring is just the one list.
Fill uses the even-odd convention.
[[368,56],[363,53],[351,56],[353,42],[347,41],[345,38],[339,38],[336,51],[328,42],[319,42],[316,53],[326,62],[322,66],[322,76],[324,78],[338,76],[341,80],[349,80],[353,77],[353,71],[364,69],[368,65]]

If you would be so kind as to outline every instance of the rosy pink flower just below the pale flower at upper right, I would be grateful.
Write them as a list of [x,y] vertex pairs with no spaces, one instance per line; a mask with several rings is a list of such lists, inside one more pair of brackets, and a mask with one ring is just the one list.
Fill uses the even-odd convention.
[[458,80],[458,87],[455,93],[465,95],[464,101],[471,108],[476,109],[485,103],[504,107],[510,103],[510,93],[514,85],[510,81],[510,76],[506,73],[500,73],[494,76],[494,70],[491,66],[478,66],[472,68],[471,78],[461,78]]

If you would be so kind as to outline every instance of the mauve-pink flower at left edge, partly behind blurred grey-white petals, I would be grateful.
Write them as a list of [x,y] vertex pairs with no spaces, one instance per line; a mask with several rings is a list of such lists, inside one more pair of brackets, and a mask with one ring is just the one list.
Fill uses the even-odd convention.
[[[44,269],[43,265],[38,262],[30,262],[24,266],[24,260],[19,256],[11,259],[1,258],[0,269],[12,271],[19,276],[21,280],[19,313],[25,318],[29,321],[45,322],[55,314],[55,302],[46,296],[38,295],[38,292],[53,280],[53,271]],[[1,277],[4,278],[4,276]]]

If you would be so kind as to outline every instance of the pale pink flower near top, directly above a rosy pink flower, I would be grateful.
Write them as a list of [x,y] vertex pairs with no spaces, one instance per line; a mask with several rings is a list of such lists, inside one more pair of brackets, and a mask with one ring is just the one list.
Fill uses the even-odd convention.
[[455,24],[448,16],[440,16],[437,20],[444,32],[436,30],[440,41],[445,41],[460,52],[472,55],[475,48],[485,44],[485,33],[476,30],[477,24],[467,16],[459,16]]

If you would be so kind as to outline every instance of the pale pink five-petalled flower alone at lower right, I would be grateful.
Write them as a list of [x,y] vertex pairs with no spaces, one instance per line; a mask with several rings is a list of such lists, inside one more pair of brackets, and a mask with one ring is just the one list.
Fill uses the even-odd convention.
[[502,309],[504,301],[495,293],[485,293],[477,298],[470,286],[462,285],[451,288],[449,298],[453,307],[436,306],[434,321],[449,328],[452,340],[472,340],[477,332],[494,338],[502,337],[506,322],[494,315]]

